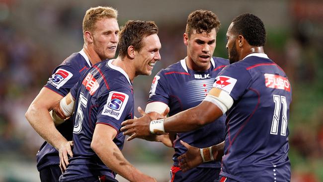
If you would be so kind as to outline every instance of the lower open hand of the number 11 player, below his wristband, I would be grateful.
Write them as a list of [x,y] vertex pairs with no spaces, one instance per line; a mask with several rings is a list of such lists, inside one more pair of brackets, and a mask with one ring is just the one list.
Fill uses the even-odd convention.
[[203,163],[203,159],[200,154],[200,149],[190,146],[189,144],[180,141],[180,143],[187,148],[187,152],[178,157],[179,167],[183,172],[186,172],[192,168],[197,167]]

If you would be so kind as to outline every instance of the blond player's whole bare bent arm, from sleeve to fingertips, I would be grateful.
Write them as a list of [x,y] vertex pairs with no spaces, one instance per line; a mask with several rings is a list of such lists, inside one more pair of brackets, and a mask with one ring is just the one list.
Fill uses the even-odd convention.
[[56,129],[50,110],[59,105],[62,96],[47,88],[43,88],[30,104],[25,116],[35,131],[49,144],[54,146],[60,157],[68,164],[68,156],[73,156],[71,142]]

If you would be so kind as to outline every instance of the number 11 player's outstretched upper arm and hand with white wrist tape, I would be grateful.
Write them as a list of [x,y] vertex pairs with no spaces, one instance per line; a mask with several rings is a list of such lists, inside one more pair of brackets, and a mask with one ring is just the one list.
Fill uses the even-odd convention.
[[212,88],[206,98],[197,106],[179,112],[165,119],[153,120],[147,115],[124,121],[121,131],[132,134],[128,140],[151,133],[186,132],[200,128],[221,117],[233,105],[233,98],[225,91]]

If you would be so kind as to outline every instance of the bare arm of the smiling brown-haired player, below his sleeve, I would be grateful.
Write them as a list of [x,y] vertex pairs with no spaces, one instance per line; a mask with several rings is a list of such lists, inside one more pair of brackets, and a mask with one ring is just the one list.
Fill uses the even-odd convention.
[[116,135],[117,131],[113,127],[101,123],[96,124],[91,149],[107,167],[130,182],[156,182],[155,179],[141,173],[124,158],[113,142]]

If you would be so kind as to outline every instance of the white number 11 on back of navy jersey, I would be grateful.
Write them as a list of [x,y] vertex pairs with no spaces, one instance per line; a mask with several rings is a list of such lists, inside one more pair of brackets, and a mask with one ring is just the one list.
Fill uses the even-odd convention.
[[282,95],[273,95],[274,102],[275,102],[275,111],[274,116],[272,118],[271,123],[271,130],[270,134],[277,135],[278,134],[278,125],[280,120],[280,109],[281,105],[283,106],[283,112],[282,112],[282,120],[281,120],[281,130],[280,135],[286,136],[286,130],[287,130],[287,101],[286,97]]

